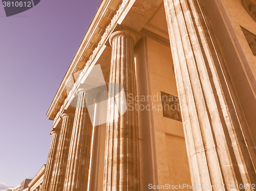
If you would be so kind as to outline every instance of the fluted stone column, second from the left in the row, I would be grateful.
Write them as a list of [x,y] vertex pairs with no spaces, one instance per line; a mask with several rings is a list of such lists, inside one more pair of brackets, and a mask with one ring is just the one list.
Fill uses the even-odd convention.
[[62,126],[60,130],[58,149],[50,186],[51,191],[63,190],[63,182],[65,182],[74,113],[63,113],[61,117]]

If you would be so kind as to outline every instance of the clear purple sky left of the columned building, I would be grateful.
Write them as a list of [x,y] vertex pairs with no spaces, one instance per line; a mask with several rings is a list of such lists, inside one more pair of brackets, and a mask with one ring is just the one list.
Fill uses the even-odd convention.
[[47,162],[46,112],[101,0],[41,0],[6,17],[0,4],[0,191]]

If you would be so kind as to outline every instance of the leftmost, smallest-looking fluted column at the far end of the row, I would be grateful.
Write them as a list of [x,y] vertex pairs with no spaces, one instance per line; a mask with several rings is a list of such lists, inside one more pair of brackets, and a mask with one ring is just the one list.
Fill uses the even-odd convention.
[[53,173],[53,168],[54,168],[54,161],[56,158],[56,151],[57,151],[58,140],[59,140],[59,131],[60,131],[59,129],[54,128],[51,132],[52,142],[51,142],[48,160],[47,160],[47,164],[46,164],[44,182],[42,185],[43,191],[50,190],[52,173]]

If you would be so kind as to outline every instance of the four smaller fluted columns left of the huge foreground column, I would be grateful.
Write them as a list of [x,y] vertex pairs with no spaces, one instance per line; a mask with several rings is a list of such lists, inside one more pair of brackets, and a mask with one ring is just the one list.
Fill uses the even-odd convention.
[[[125,95],[136,96],[134,65],[134,35],[115,32],[111,36],[112,61],[110,83],[121,84]],[[120,86],[110,86],[110,96],[116,98]],[[78,89],[75,114],[64,113],[60,132],[52,131],[43,191],[88,190],[92,130],[86,103],[92,103],[94,95]],[[120,95],[123,96],[123,95]],[[139,190],[138,119],[137,111],[129,111],[115,121],[117,111],[114,99],[110,99],[106,125],[106,149],[103,190]],[[135,100],[135,99],[134,99]],[[113,101],[113,103],[112,103]],[[124,110],[119,104],[118,110]],[[122,112],[123,113],[123,112]]]

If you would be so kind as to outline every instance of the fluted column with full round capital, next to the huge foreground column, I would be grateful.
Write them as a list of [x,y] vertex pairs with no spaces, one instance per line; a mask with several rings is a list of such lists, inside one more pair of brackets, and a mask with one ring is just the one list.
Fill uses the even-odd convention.
[[[136,96],[134,65],[135,37],[128,31],[114,32],[110,37],[112,60],[110,71],[110,100],[106,124],[106,147],[103,190],[140,190],[138,116],[135,109],[125,113],[122,103],[124,88],[126,99]],[[117,93],[120,92],[117,96]],[[118,97],[118,98],[117,98]],[[135,106],[134,102],[129,103]],[[115,118],[116,112],[124,113]]]

